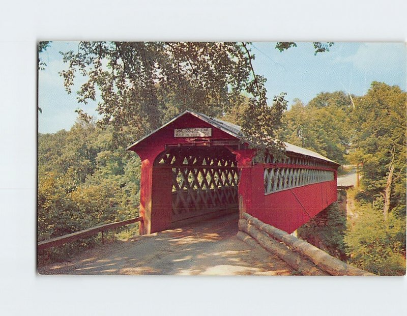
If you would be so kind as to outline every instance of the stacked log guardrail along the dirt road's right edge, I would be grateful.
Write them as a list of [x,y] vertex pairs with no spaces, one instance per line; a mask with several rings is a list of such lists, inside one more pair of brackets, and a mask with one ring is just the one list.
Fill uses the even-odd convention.
[[243,213],[237,237],[253,238],[303,275],[375,275],[340,261],[325,251]]

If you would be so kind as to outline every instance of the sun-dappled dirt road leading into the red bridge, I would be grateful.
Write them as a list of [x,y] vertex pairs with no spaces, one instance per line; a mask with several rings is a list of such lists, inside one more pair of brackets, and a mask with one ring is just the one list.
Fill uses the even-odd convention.
[[260,246],[236,237],[238,214],[99,245],[70,262],[39,267],[40,274],[293,275]]

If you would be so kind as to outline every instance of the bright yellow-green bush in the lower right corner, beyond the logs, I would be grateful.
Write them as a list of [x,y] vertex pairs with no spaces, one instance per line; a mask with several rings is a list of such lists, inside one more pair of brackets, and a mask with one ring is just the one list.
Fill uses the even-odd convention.
[[357,217],[348,225],[344,242],[349,262],[380,275],[405,274],[405,218],[358,205]]

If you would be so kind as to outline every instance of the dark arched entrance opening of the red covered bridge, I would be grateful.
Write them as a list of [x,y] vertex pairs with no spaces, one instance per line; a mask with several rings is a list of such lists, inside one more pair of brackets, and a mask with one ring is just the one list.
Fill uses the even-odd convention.
[[237,161],[227,148],[170,146],[157,156],[154,169],[153,187],[154,178],[166,179],[160,187],[171,192],[170,199],[155,205],[161,214],[163,208],[171,212],[171,227],[239,212]]

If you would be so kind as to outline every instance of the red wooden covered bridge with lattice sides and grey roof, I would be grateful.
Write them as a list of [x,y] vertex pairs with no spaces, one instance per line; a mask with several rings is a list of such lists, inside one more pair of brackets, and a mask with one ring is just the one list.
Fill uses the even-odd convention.
[[185,111],[128,150],[141,158],[140,234],[229,212],[294,232],[336,201],[338,163],[286,143],[253,162],[240,126]]

